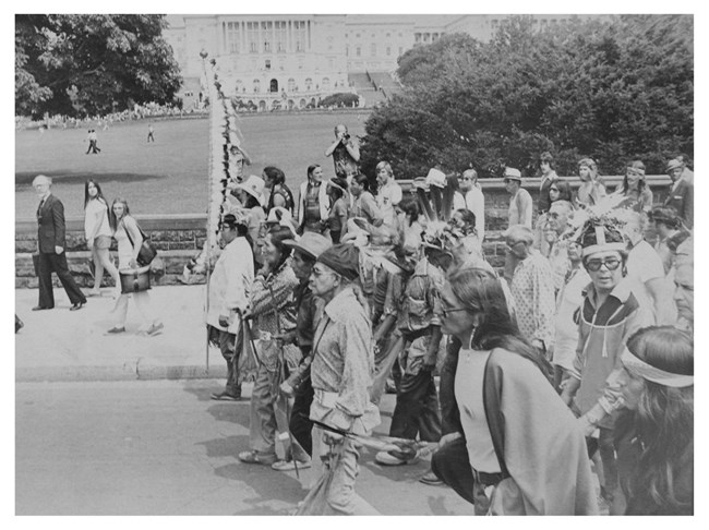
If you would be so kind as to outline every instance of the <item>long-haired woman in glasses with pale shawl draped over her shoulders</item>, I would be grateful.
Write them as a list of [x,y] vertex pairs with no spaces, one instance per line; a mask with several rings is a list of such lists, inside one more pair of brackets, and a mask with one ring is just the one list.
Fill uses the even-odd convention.
[[[433,472],[474,504],[476,514],[596,514],[584,434],[519,332],[502,280],[480,268],[458,269],[441,300],[442,329],[462,347],[441,376],[446,410]],[[444,397],[450,385],[453,403]]]

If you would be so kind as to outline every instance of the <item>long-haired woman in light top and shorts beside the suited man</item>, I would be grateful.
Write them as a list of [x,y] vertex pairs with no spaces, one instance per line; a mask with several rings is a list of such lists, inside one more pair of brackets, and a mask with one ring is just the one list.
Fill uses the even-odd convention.
[[89,179],[84,184],[84,234],[86,246],[92,251],[94,260],[94,288],[86,294],[100,296],[104,269],[108,270],[116,282],[116,296],[121,292],[121,278],[109,255],[111,246],[111,227],[108,215],[108,203],[101,193],[98,182]]

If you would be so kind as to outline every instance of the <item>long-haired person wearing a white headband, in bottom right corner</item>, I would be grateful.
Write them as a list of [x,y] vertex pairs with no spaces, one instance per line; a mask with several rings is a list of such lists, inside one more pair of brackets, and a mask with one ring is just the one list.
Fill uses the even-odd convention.
[[624,498],[614,508],[694,515],[694,340],[671,326],[640,329],[621,360],[625,409],[616,446]]

